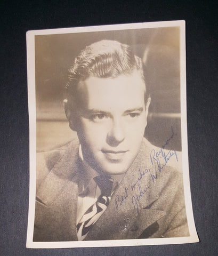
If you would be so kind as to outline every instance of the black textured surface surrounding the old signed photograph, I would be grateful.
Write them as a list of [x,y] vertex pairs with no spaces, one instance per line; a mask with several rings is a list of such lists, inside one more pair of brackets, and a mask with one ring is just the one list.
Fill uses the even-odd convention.
[[[217,2],[1,1],[0,255],[217,255]],[[186,20],[189,170],[200,243],[26,249],[29,127],[26,31]]]

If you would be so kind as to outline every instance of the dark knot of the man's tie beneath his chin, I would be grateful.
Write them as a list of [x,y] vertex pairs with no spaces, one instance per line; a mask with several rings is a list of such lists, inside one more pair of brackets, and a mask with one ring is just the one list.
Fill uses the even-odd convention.
[[113,186],[113,179],[106,175],[99,175],[94,178],[94,181],[99,186],[102,196],[110,196]]

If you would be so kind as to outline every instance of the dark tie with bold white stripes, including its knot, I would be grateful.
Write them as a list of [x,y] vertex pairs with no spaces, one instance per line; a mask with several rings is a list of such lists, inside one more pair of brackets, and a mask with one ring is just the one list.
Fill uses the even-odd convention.
[[88,231],[90,231],[94,223],[100,218],[110,203],[111,189],[113,185],[112,179],[105,175],[99,175],[94,178],[94,181],[99,186],[101,195],[97,201],[88,208],[77,224],[77,237],[79,240],[83,240],[87,236]]

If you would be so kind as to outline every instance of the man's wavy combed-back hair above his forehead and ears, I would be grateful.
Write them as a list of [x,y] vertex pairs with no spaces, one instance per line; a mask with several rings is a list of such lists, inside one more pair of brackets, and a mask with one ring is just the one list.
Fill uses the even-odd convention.
[[[69,68],[65,97],[71,101],[76,95],[78,83],[90,76],[110,78],[130,75],[138,70],[146,85],[143,66],[141,58],[134,55],[132,48],[126,44],[111,40],[93,43],[80,52]],[[148,97],[146,92],[145,101]]]

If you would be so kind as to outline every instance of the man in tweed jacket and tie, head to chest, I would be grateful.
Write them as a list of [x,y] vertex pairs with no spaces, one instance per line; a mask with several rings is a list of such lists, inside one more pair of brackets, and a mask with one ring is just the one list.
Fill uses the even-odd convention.
[[140,185],[157,158],[152,150],[164,156],[143,137],[150,100],[130,46],[103,40],[80,53],[64,99],[78,140],[41,153],[47,175],[36,194],[34,241],[189,235],[181,173],[165,165],[154,186]]

